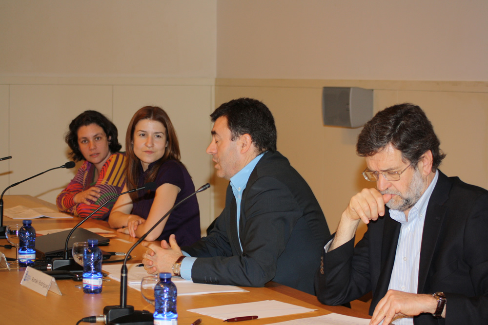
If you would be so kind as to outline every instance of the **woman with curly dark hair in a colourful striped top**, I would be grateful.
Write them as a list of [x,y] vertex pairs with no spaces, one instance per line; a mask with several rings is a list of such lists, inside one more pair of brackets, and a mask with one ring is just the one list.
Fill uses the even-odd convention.
[[[122,192],[126,159],[117,139],[117,127],[96,111],[85,111],[69,125],[65,141],[75,161],[84,160],[75,177],[56,199],[58,209],[82,218]],[[113,203],[92,218],[107,220]]]

